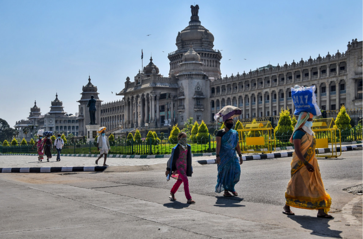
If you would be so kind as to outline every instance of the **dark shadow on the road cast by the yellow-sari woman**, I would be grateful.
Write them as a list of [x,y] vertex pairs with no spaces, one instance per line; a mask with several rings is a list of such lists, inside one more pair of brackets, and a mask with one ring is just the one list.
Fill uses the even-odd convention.
[[340,233],[342,231],[337,230],[331,230],[329,227],[330,225],[328,222],[334,218],[327,219],[327,218],[314,218],[311,216],[300,216],[300,215],[289,215],[287,216],[291,220],[294,220],[295,222],[299,223],[302,228],[305,228],[307,230],[312,230],[310,232],[311,235],[318,235],[322,237],[337,237],[342,238],[340,236]]

